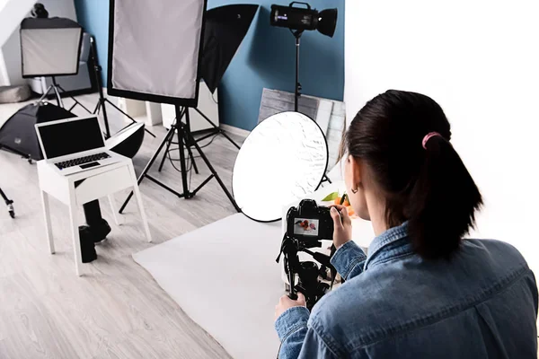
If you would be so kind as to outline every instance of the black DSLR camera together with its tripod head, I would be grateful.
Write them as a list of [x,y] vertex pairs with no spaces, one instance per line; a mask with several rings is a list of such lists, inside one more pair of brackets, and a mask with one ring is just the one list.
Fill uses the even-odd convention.
[[[296,293],[303,293],[309,310],[331,290],[336,275],[336,270],[330,263],[333,247],[330,256],[310,249],[322,247],[322,240],[331,241],[332,238],[333,219],[330,208],[317,206],[313,199],[304,199],[299,206],[288,209],[287,232],[281,243],[277,262],[282,253],[285,257],[285,272],[290,284],[288,296],[296,300]],[[298,252],[310,254],[320,266],[314,261],[300,262]],[[331,285],[323,280],[331,280]]]

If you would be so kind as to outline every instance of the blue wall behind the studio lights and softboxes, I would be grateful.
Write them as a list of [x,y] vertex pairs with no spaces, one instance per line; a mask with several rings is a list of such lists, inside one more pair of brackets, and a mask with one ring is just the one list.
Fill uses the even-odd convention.
[[[287,1],[208,0],[208,8],[224,4],[261,4],[251,29],[219,86],[221,122],[251,130],[256,126],[264,87],[294,92],[296,47],[290,31],[270,26],[271,4]],[[319,10],[339,8],[335,36],[305,31],[301,39],[300,82],[303,93],[342,101],[344,90],[344,0],[310,0]],[[103,79],[108,55],[108,0],[75,0],[79,22],[96,37]]]

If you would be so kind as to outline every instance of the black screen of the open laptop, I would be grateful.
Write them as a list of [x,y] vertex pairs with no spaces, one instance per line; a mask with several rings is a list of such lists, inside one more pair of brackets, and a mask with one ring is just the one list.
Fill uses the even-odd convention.
[[43,155],[47,159],[104,147],[97,118],[80,118],[40,126]]

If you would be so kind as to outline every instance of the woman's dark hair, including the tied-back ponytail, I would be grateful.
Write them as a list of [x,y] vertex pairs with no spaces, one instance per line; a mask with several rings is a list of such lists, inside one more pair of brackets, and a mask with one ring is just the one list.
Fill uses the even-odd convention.
[[[423,138],[432,136],[423,148]],[[385,197],[385,221],[409,222],[422,258],[449,258],[473,227],[482,196],[455,152],[436,101],[389,90],[368,101],[345,136],[348,153],[367,163]]]

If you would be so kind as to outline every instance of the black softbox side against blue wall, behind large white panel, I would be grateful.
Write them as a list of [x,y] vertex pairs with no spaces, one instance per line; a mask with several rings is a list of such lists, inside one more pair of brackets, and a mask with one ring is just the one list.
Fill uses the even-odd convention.
[[208,10],[200,73],[210,92],[216,91],[258,8],[255,4],[232,4]]

